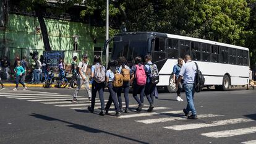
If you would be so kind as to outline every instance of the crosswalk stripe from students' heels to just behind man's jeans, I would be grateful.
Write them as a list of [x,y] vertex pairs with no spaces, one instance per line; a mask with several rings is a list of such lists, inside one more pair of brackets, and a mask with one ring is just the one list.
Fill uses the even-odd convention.
[[164,112],[148,112],[148,113],[140,113],[140,114],[129,114],[125,116],[120,116],[118,118],[125,119],[131,117],[143,117],[143,116],[153,116],[153,115],[160,115],[160,114],[179,114],[183,111],[164,111]]

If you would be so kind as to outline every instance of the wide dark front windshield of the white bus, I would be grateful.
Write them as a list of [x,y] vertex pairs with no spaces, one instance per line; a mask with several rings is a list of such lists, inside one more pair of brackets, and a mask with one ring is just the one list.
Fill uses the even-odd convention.
[[140,41],[114,41],[112,49],[112,59],[119,56],[126,57],[127,61],[132,61],[135,56],[144,57],[147,54],[147,40]]

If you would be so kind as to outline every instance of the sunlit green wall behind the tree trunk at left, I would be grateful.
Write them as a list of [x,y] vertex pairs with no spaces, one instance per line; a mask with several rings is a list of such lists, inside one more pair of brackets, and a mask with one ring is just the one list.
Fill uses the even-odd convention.
[[[72,35],[80,36],[78,40],[79,59],[83,53],[87,53],[92,63],[94,47],[100,47],[103,50],[104,27],[92,27],[87,23],[55,19],[45,19],[45,23],[48,28],[49,43],[52,50],[65,51],[64,61],[66,63],[72,61],[74,53],[74,38],[72,38]],[[29,53],[35,50],[38,50],[40,55],[43,54],[44,46],[41,30],[36,32],[36,27],[40,27],[36,17],[9,14],[6,30],[0,30],[0,39],[6,40],[5,49],[3,48],[2,51],[9,51],[12,64],[15,54],[21,55],[22,53],[22,55],[28,57]],[[96,39],[96,43],[94,43],[93,38]],[[103,59],[105,58],[103,57]]]

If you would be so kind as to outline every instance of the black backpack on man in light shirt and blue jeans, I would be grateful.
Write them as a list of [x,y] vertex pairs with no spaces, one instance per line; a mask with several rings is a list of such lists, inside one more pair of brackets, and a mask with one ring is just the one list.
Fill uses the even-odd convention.
[[[197,66],[197,62],[195,62],[195,66]],[[199,93],[203,86],[205,85],[205,77],[203,77],[203,74],[200,70],[198,70],[198,66],[197,66],[197,70],[195,70],[195,91],[197,91],[197,93]]]

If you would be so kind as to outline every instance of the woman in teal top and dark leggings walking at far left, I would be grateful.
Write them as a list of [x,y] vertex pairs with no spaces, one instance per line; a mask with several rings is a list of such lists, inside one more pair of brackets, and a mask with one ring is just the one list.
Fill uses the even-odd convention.
[[27,90],[28,88],[25,86],[23,80],[22,80],[22,74],[25,73],[25,70],[22,66],[20,66],[20,61],[17,61],[17,66],[14,69],[14,72],[16,74],[16,86],[13,89],[14,91],[17,91],[19,83],[22,84],[23,90]]

